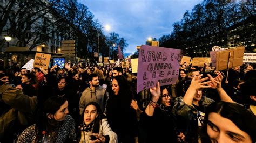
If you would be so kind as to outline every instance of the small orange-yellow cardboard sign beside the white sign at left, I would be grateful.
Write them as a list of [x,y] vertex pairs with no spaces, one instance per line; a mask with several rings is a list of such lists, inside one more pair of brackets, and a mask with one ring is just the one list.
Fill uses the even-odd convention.
[[50,54],[36,53],[33,67],[48,69],[50,59]]

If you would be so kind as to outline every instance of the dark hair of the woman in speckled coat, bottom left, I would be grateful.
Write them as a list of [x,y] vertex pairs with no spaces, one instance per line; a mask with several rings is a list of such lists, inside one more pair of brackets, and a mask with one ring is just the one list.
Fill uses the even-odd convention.
[[37,133],[37,138],[42,136],[43,131],[46,131],[46,133],[51,132],[52,126],[49,124],[48,115],[49,113],[54,115],[66,101],[67,99],[64,97],[52,96],[44,102],[43,107],[38,110],[36,116],[35,131]]

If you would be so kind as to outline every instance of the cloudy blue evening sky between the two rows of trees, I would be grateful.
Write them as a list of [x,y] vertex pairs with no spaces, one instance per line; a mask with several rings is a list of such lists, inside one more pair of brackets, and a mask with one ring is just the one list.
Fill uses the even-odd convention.
[[148,37],[170,34],[172,24],[180,21],[186,10],[202,0],[78,0],[86,5],[103,26],[127,40],[125,53],[135,52]]

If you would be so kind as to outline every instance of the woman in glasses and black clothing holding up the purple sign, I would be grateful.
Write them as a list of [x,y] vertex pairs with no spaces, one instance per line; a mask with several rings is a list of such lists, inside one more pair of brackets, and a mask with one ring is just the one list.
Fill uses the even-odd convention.
[[[144,142],[181,142],[185,136],[176,127],[172,114],[171,96],[165,87],[151,88],[151,101],[140,116],[140,125],[146,132]],[[168,132],[166,132],[166,129]]]

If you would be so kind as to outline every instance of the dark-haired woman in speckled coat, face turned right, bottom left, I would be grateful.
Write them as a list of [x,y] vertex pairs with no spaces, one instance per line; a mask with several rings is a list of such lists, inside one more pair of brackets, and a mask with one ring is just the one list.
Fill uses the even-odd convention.
[[68,101],[63,97],[52,96],[39,109],[36,124],[26,128],[18,137],[18,142],[39,142],[43,136],[48,142],[65,142],[76,139],[73,118],[68,115]]

